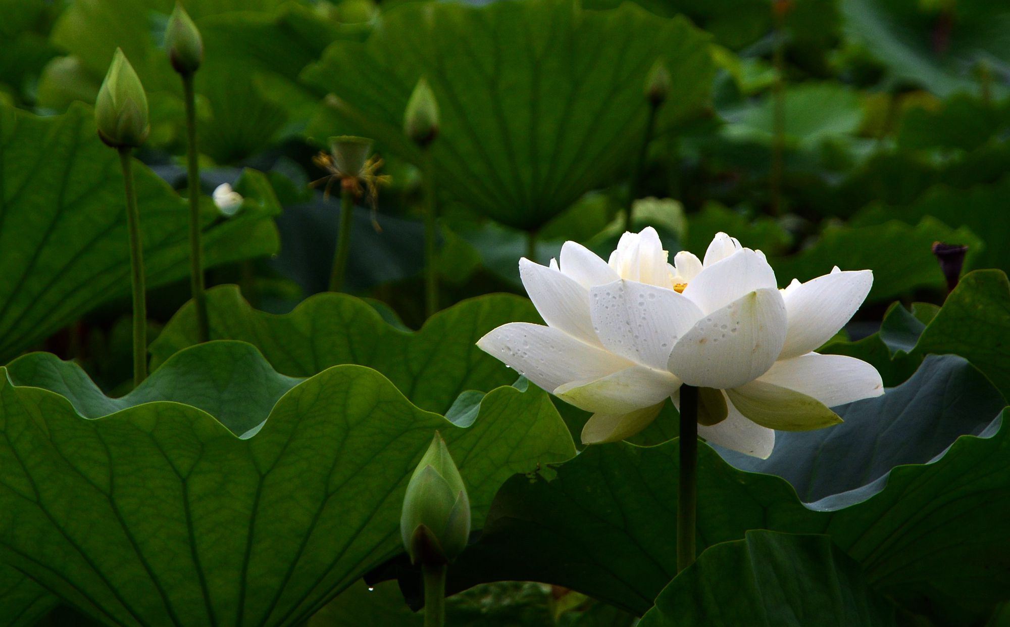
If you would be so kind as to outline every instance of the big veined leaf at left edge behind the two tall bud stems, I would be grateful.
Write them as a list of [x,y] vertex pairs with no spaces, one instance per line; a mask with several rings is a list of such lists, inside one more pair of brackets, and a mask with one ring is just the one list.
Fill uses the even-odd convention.
[[[38,117],[0,108],[0,363],[82,314],[129,293],[129,246],[119,158],[98,139],[91,109]],[[133,163],[144,267],[153,287],[189,272],[185,200]],[[208,266],[268,255],[279,245],[266,211],[219,221],[205,208]]]

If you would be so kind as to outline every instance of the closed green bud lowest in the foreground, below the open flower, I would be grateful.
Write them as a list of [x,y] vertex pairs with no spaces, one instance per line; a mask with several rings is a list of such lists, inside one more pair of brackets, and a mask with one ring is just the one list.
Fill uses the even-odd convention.
[[410,561],[428,565],[452,561],[470,538],[467,488],[437,432],[407,484],[400,534]]

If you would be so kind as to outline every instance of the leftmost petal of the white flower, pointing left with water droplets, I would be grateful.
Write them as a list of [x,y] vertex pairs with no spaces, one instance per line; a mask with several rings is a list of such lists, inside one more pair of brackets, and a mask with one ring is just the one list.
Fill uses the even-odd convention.
[[478,340],[477,346],[547,391],[634,365],[564,331],[529,323],[502,325]]

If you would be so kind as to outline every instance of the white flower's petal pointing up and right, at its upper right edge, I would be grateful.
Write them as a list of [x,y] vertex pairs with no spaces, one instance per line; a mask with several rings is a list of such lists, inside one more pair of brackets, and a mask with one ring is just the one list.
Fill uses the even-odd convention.
[[806,283],[791,283],[783,291],[789,332],[782,358],[804,355],[830,340],[860,308],[873,284],[871,270],[837,268]]

